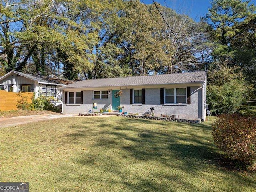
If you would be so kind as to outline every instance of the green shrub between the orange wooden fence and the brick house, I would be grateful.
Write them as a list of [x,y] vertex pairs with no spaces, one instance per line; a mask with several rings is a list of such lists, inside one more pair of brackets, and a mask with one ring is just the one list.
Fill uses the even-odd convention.
[[38,98],[32,98],[32,109],[34,110],[53,110],[54,104],[52,101],[53,97],[39,96]]

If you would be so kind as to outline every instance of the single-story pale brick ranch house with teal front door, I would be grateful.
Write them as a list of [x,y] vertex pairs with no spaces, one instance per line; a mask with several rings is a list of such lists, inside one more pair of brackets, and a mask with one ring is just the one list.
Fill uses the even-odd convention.
[[[202,119],[206,116],[206,72],[187,72],[152,76],[134,76],[84,80],[60,87],[63,113],[89,110],[117,110],[145,114],[154,108],[155,115],[178,115]],[[122,90],[122,96],[114,94]],[[93,109],[93,103],[97,109]]]

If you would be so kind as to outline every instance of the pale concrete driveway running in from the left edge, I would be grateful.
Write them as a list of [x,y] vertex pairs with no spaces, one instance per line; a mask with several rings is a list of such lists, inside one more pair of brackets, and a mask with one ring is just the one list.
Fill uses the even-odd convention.
[[27,124],[31,122],[47,121],[50,119],[63,118],[63,117],[74,117],[76,114],[49,114],[49,115],[28,115],[28,116],[18,116],[10,118],[0,118],[0,127],[10,127],[21,124]]

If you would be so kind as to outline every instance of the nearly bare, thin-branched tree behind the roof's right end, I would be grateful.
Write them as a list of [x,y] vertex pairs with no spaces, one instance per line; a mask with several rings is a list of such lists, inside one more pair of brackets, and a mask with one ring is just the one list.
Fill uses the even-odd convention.
[[212,48],[208,43],[207,26],[194,22],[187,15],[177,14],[170,8],[160,7],[160,10],[168,24],[162,22],[166,58],[161,72],[198,70],[200,64],[206,62]]

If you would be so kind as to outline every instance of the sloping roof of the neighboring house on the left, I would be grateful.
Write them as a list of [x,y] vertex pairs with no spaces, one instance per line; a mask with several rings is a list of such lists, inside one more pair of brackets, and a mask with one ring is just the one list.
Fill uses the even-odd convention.
[[0,77],[0,80],[5,78],[6,76],[8,76],[11,73],[16,73],[20,76],[26,77],[33,81],[40,82],[40,83],[46,83],[46,84],[67,85],[67,84],[74,83],[74,81],[71,81],[71,80],[66,80],[66,79],[61,79],[61,78],[53,78],[53,77],[47,78],[42,75],[39,78],[39,75],[37,75],[37,74],[27,74],[27,73],[22,73],[20,71],[15,71],[15,70],[12,70],[12,71],[8,72],[7,74],[5,74],[4,76]]

